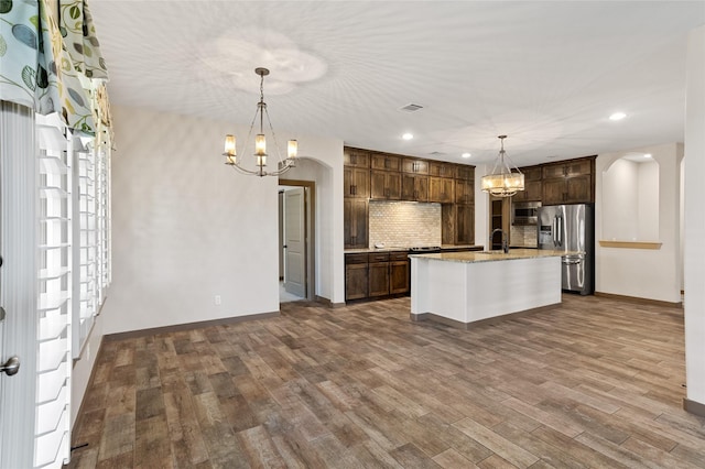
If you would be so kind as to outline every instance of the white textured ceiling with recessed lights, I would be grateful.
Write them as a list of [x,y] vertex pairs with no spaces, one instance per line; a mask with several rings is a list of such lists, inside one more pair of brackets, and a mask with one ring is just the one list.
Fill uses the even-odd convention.
[[705,23],[704,1],[90,8],[115,105],[249,124],[263,66],[278,133],[471,164],[502,133],[518,165],[683,141],[687,34]]

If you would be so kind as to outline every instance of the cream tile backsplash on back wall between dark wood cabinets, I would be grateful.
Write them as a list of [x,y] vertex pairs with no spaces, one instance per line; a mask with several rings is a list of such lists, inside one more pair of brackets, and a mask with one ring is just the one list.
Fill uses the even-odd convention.
[[441,246],[441,204],[370,200],[370,248]]

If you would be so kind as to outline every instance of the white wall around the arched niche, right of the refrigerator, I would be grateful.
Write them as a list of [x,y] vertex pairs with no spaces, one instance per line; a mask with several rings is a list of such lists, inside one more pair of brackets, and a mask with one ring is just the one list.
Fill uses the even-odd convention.
[[[680,258],[680,163],[683,145],[670,143],[629,152],[600,154],[595,163],[595,234],[605,230],[600,214],[612,203],[604,192],[604,172],[626,153],[651,153],[659,163],[659,250],[595,247],[595,290],[600,293],[633,296],[669,303],[681,301]],[[628,240],[629,241],[629,240]]]

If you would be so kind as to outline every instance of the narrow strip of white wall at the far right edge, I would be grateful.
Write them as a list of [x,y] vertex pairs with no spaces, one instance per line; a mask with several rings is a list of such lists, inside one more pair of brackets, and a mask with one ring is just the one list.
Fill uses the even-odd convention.
[[685,107],[685,378],[687,399],[705,405],[705,26],[691,33]]

